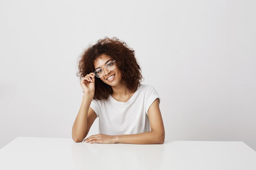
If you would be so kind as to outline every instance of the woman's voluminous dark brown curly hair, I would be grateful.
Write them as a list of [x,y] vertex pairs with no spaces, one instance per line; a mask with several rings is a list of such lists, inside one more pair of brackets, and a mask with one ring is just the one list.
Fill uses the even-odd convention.
[[[100,39],[96,44],[90,45],[80,55],[79,71],[76,75],[80,80],[82,77],[95,71],[94,61],[100,57],[100,55],[110,55],[114,60],[117,60],[116,64],[121,71],[121,83],[125,84],[131,91],[140,86],[141,79],[144,79],[141,75],[141,68],[135,58],[135,51],[127,46],[125,42],[120,41],[118,38]],[[95,78],[95,92],[93,99],[101,100],[108,99],[109,95],[113,93],[112,88],[101,79]]]

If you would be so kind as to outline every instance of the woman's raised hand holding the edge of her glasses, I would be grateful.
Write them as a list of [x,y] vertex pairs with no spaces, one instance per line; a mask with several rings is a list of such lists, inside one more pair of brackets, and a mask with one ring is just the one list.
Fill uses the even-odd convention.
[[83,88],[83,92],[94,95],[95,92],[95,74],[90,73],[82,77],[80,85]]

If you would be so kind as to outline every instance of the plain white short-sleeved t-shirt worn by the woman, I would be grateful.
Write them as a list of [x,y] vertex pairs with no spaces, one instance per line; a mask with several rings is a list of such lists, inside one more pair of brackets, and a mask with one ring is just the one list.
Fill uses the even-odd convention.
[[150,131],[148,109],[160,97],[155,88],[140,84],[127,102],[119,102],[111,95],[109,100],[93,99],[90,107],[99,117],[99,133],[130,135]]

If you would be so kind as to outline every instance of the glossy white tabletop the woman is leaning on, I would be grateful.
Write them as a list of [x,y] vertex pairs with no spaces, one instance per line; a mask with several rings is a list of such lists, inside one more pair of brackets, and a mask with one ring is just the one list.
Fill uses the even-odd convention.
[[17,137],[0,149],[0,170],[256,170],[240,141],[90,144],[71,138]]

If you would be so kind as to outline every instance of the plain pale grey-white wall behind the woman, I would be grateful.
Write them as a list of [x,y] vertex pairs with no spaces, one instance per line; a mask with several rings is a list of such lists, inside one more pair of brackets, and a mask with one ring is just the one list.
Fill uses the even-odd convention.
[[77,59],[116,36],[162,99],[166,140],[256,150],[255,9],[253,0],[0,1],[0,148],[17,136],[71,138]]

